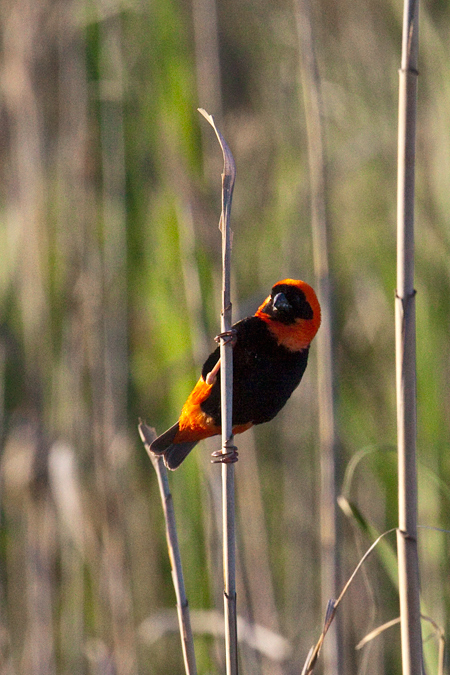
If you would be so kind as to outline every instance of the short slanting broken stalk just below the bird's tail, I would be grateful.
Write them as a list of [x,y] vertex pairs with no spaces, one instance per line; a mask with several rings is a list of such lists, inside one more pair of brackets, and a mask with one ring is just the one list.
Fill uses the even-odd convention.
[[192,635],[191,619],[189,614],[189,605],[184,587],[183,568],[181,566],[180,547],[178,545],[177,525],[175,521],[175,510],[173,506],[172,494],[167,477],[167,469],[164,466],[162,456],[155,455],[150,451],[150,445],[156,438],[155,430],[148,427],[143,422],[139,423],[139,434],[144,443],[147,454],[158,477],[159,492],[166,521],[166,539],[169,549],[170,565],[172,567],[172,580],[177,599],[178,624],[180,627],[181,646],[183,649],[184,667],[186,675],[196,675],[197,666],[195,662],[194,638]]

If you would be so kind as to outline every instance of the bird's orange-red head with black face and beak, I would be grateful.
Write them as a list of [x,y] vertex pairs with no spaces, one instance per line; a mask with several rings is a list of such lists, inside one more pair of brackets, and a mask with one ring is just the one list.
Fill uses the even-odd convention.
[[308,347],[321,320],[314,289],[296,279],[276,283],[255,316],[266,322],[278,344],[291,351]]

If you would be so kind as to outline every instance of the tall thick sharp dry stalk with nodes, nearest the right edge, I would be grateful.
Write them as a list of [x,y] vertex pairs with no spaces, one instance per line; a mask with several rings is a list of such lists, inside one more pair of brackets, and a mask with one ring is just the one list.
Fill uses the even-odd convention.
[[399,83],[397,293],[395,301],[400,617],[403,675],[422,675],[417,553],[414,168],[419,3],[405,0]]

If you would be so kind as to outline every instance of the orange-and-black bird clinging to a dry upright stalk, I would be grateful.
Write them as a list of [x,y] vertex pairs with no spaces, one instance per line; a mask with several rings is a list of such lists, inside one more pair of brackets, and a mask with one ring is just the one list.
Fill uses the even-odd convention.
[[[300,384],[320,322],[314,289],[305,281],[284,279],[272,287],[253,316],[232,326],[224,339],[231,339],[233,344],[233,434],[269,422],[280,412]],[[199,441],[220,433],[217,347],[203,364],[201,377],[178,422],[158,436],[149,449],[163,456],[168,469],[175,470]]]

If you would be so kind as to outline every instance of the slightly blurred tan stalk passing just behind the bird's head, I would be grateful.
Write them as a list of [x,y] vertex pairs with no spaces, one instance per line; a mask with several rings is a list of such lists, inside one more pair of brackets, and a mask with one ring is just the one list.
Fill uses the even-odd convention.
[[[311,191],[311,227],[314,274],[322,307],[322,326],[317,336],[317,386],[320,452],[320,542],[321,601],[335,597],[336,461],[333,405],[333,354],[331,335],[330,274],[326,217],[326,161],[322,128],[322,94],[314,52],[310,0],[297,0],[297,32],[300,47],[300,77],[303,90]],[[324,648],[324,673],[339,673],[338,632],[333,625]]]

